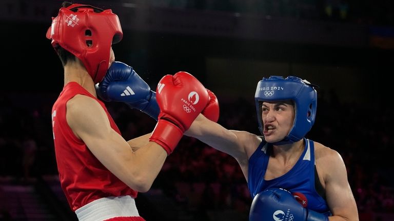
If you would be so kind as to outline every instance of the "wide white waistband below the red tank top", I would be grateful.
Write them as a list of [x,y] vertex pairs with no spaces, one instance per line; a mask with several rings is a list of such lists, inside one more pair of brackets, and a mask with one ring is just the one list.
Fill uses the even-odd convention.
[[80,221],[101,221],[121,216],[140,216],[131,196],[111,196],[96,199],[75,210]]

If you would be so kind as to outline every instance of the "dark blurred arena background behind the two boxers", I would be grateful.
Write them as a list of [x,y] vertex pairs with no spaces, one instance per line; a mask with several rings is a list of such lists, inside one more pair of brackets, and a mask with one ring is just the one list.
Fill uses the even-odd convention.
[[[0,220],[76,220],[57,179],[51,107],[63,70],[45,33],[62,1],[0,0]],[[308,138],[341,153],[360,220],[394,220],[391,0],[76,1],[111,8],[124,62],[154,90],[183,70],[219,98],[219,123],[259,133],[254,91],[264,76],[320,86]],[[7,71],[6,71],[7,70]],[[108,108],[126,139],[153,119]],[[233,158],[184,137],[137,208],[147,221],[247,220],[251,198]]]

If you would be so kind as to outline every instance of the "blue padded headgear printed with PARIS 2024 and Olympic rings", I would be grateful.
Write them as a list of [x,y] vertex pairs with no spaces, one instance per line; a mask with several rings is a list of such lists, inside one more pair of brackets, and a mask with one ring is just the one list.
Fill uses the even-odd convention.
[[303,81],[299,77],[288,76],[270,76],[263,79],[257,84],[254,100],[256,103],[257,117],[259,120],[259,129],[263,134],[264,125],[261,118],[261,103],[273,101],[294,102],[294,123],[289,134],[275,145],[291,144],[304,138],[306,133],[310,131],[316,117],[317,108],[317,92],[307,81]]

